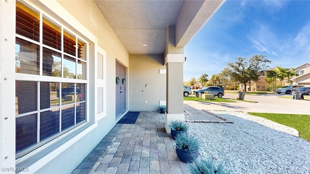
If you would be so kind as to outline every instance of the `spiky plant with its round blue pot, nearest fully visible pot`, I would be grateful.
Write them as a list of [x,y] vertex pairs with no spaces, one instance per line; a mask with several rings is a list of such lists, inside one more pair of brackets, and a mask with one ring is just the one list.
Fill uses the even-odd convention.
[[187,133],[180,133],[175,138],[175,151],[182,162],[192,163],[199,156],[199,141]]

